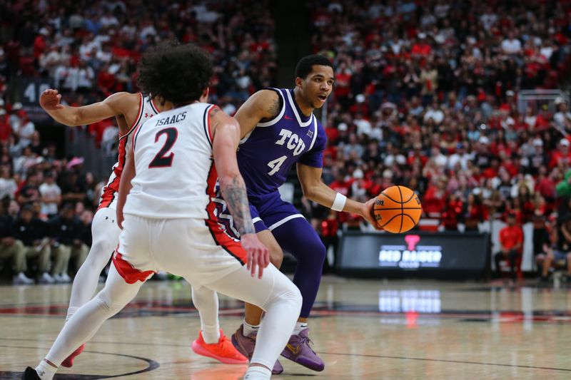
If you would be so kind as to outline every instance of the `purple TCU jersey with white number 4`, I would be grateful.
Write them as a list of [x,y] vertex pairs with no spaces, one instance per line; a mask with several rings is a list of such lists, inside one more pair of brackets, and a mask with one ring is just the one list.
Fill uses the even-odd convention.
[[315,115],[305,116],[295,103],[293,90],[268,88],[281,96],[276,118],[256,125],[238,147],[238,167],[246,182],[248,197],[278,190],[291,165],[323,167],[325,130]]

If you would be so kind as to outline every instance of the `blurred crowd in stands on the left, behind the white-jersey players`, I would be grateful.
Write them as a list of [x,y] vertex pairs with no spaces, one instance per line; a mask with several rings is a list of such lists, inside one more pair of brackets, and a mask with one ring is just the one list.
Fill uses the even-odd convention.
[[[107,178],[46,144],[9,86],[49,78],[71,106],[136,92],[141,54],[176,40],[211,53],[211,101],[227,113],[274,81],[273,19],[261,1],[0,0],[0,268],[14,283],[70,281]],[[84,129],[100,144],[116,140],[113,123]]]

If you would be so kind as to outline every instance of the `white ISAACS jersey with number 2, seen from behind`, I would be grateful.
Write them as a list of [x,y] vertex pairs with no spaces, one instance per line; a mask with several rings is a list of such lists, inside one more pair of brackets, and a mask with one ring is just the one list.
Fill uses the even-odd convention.
[[134,131],[136,175],[125,214],[161,219],[213,217],[218,179],[210,127],[214,108],[192,103],[156,115]]

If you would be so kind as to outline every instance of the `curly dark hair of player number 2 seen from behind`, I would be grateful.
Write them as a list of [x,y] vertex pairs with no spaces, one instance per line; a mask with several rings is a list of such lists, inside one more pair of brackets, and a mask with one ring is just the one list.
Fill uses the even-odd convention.
[[198,101],[213,76],[206,51],[191,44],[164,43],[139,62],[138,86],[173,104]]

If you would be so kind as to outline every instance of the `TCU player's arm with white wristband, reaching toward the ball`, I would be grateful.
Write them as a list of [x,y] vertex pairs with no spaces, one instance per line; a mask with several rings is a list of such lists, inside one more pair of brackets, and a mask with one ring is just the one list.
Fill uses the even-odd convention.
[[361,215],[373,227],[377,228],[375,217],[373,216],[373,205],[375,199],[368,200],[366,203],[357,202],[345,198],[338,194],[321,180],[322,168],[314,168],[313,166],[298,163],[298,178],[301,183],[303,195],[306,198],[318,202],[320,205],[330,207],[333,210],[352,212]]

